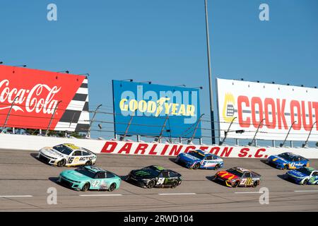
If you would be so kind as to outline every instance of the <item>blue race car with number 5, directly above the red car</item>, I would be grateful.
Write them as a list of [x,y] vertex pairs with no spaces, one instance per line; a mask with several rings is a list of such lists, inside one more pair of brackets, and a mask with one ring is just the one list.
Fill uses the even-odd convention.
[[224,166],[223,159],[218,155],[206,153],[203,150],[180,153],[176,162],[189,169],[218,169]]

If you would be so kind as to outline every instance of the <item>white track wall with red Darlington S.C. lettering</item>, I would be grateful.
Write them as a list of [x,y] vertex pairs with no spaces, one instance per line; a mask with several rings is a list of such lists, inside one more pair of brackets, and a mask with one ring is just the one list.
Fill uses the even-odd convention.
[[71,138],[54,138],[46,136],[24,136],[16,134],[0,133],[0,150],[40,150],[43,147],[52,147],[61,143],[73,143],[94,153],[108,153],[119,155],[153,155],[153,156],[177,156],[179,153],[187,153],[191,150],[201,149],[220,157],[240,158],[266,158],[269,155],[277,155],[291,152],[307,158],[318,158],[318,148],[256,148],[243,146],[216,146],[216,145],[185,145],[172,143],[139,143],[126,141],[100,141]]

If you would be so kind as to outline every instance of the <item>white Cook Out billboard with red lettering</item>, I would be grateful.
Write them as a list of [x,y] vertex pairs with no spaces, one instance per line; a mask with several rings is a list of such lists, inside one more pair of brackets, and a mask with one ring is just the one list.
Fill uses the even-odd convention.
[[[254,137],[288,141],[318,141],[318,90],[292,85],[216,79],[220,137]],[[260,125],[260,126],[259,126]],[[244,133],[235,133],[244,130]]]

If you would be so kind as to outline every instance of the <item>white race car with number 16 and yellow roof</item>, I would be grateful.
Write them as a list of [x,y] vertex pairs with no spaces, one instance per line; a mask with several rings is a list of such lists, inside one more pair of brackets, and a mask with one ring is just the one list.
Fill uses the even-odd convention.
[[71,167],[76,165],[94,165],[97,155],[86,148],[79,148],[71,143],[62,143],[52,148],[41,148],[37,158],[49,165]]

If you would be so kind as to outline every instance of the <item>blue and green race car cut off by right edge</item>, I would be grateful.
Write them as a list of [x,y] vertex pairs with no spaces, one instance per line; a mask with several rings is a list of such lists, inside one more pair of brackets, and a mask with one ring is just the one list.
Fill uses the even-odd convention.
[[312,167],[301,167],[286,172],[285,177],[296,184],[318,184],[318,170]]

